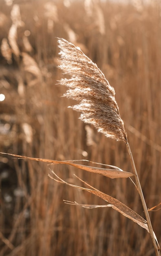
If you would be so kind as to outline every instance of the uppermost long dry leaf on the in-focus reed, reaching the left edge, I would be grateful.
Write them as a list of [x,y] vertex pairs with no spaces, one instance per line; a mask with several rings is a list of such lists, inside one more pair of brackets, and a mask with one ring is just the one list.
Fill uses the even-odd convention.
[[68,164],[68,165],[74,166],[76,168],[82,169],[84,171],[104,175],[104,176],[109,177],[111,179],[128,178],[128,177],[133,176],[133,173],[124,172],[120,168],[118,168],[117,166],[112,166],[112,165],[108,165],[108,164],[103,164],[103,165],[108,166],[108,167],[113,168],[113,169],[97,168],[97,167],[93,167],[93,166],[86,166],[86,165],[82,165],[82,164],[77,164],[77,162],[79,162],[79,161],[88,162],[88,163],[92,163],[92,164],[95,164],[95,165],[99,164],[99,163],[91,162],[91,161],[88,161],[88,160],[57,161],[57,160],[50,160],[50,159],[43,159],[43,158],[26,157],[26,156],[22,156],[22,155],[15,155],[15,154],[2,153],[2,152],[0,152],[0,153],[15,156],[15,157],[18,157],[18,158],[29,159],[29,160],[40,161],[40,162],[46,162],[46,163],[51,163],[51,164]]

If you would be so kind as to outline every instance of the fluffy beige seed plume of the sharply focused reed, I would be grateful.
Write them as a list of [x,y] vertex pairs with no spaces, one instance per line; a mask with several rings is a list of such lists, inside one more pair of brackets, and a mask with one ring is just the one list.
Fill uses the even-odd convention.
[[80,100],[74,110],[82,112],[80,119],[93,124],[106,137],[122,140],[127,135],[115,100],[115,90],[104,74],[78,47],[63,38],[58,39],[60,47],[60,68],[71,79],[61,79],[60,84],[69,87],[67,98]]

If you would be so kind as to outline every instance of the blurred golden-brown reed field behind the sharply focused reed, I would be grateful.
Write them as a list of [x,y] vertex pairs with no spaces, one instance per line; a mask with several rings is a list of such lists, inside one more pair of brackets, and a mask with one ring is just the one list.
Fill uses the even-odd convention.
[[[67,108],[57,37],[79,46],[115,88],[148,208],[161,202],[161,4],[155,0],[0,1],[0,151],[55,160],[131,165],[123,142]],[[0,256],[154,255],[147,231],[87,192],[48,177],[78,175],[144,217],[129,179],[0,155]],[[161,243],[161,210],[150,211]]]

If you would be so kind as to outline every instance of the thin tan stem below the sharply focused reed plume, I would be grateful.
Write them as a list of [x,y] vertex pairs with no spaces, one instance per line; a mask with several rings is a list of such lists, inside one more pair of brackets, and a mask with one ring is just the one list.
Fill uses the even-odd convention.
[[150,233],[150,236],[151,236],[151,239],[152,239],[152,243],[153,243],[153,246],[154,246],[154,249],[155,249],[155,254],[157,256],[161,256],[161,254],[160,254],[160,249],[161,248],[160,248],[159,244],[157,243],[157,241],[154,238],[154,231],[152,229],[152,224],[151,224],[148,208],[146,206],[146,202],[145,202],[145,199],[144,199],[144,196],[143,196],[143,191],[141,189],[141,184],[140,184],[139,177],[138,177],[138,174],[137,174],[137,169],[135,167],[135,162],[134,162],[134,159],[132,157],[130,146],[128,144],[128,140],[126,142],[126,147],[128,149],[128,154],[130,155],[130,161],[131,161],[131,164],[132,164],[133,172],[135,174],[135,180],[136,180],[137,189],[138,189],[138,192],[139,192],[139,195],[140,195],[140,198],[141,198],[141,202],[142,202],[142,206],[143,206],[143,210],[144,210],[144,213],[145,213],[145,216],[146,216],[149,233]]

